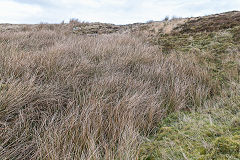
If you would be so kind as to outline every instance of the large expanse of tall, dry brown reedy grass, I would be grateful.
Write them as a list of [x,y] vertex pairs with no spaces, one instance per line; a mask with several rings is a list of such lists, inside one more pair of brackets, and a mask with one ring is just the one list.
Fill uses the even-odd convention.
[[136,159],[164,116],[213,91],[191,56],[141,37],[38,27],[0,33],[0,159]]

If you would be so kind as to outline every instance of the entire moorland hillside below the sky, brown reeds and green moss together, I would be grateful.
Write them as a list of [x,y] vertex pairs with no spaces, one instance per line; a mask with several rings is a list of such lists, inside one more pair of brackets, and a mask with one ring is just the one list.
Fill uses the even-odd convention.
[[0,24],[0,159],[240,159],[239,20]]

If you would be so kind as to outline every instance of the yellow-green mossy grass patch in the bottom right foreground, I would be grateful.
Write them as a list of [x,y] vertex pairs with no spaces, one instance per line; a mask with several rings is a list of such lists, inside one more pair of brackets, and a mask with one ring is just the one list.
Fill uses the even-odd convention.
[[141,159],[238,159],[239,111],[226,108],[170,114],[141,146]]

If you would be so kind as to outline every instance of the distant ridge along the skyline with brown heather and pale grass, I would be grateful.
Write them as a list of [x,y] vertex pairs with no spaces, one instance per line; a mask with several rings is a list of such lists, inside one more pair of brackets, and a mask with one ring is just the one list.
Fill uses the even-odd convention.
[[[232,11],[194,18],[174,18],[164,21],[151,21],[148,23],[135,23],[127,25],[114,25],[107,23],[79,22],[73,19],[69,24],[46,24],[49,29],[61,26],[69,28],[77,34],[110,34],[124,32],[145,32],[146,34],[171,33],[171,32],[211,32],[221,29],[232,28],[240,24],[240,12]],[[0,31],[38,30],[40,25],[0,24]],[[45,25],[45,27],[46,27]]]

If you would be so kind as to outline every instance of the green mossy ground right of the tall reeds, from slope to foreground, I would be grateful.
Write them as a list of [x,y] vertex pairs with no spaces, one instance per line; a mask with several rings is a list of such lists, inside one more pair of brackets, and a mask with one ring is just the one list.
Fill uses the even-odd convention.
[[[240,28],[222,16],[187,22],[181,32],[153,40],[166,55],[190,57],[207,70],[218,98],[204,109],[170,114],[142,144],[140,159],[240,159]],[[234,25],[221,25],[225,20]]]

